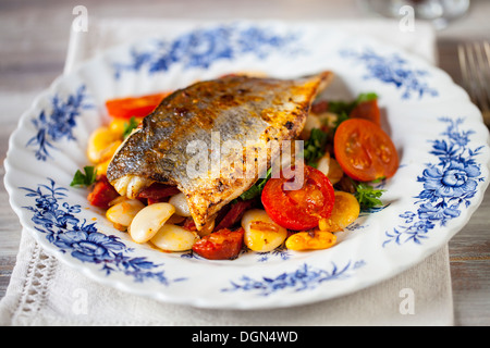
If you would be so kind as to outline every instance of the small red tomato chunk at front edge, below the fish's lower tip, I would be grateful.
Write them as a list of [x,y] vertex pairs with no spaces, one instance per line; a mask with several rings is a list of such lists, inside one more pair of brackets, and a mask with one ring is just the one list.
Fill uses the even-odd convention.
[[223,228],[213,232],[196,241],[193,251],[209,260],[233,260],[242,250],[245,231]]

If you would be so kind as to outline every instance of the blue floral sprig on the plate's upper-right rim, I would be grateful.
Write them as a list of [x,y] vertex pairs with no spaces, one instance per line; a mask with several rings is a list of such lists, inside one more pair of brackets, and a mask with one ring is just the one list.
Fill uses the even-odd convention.
[[368,71],[364,76],[365,79],[376,78],[403,90],[403,99],[411,99],[413,94],[418,95],[419,98],[425,95],[432,97],[439,95],[425,80],[429,76],[427,71],[412,69],[408,61],[396,53],[383,57],[377,54],[370,48],[365,48],[362,52],[341,50],[340,54],[343,58],[363,63]]

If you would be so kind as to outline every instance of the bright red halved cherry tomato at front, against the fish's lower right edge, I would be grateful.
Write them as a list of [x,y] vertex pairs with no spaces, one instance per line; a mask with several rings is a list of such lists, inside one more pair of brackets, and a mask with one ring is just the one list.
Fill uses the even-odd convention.
[[332,212],[334,192],[328,177],[320,171],[304,166],[303,186],[296,190],[285,189],[284,184],[294,178],[270,178],[262,190],[262,204],[277,224],[294,231],[318,226],[320,219]]

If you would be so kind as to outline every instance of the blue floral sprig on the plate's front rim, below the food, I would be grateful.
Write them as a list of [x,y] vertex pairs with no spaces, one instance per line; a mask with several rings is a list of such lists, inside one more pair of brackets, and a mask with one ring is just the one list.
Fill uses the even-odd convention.
[[232,281],[231,287],[223,288],[221,291],[254,291],[259,296],[269,296],[285,289],[294,291],[310,290],[318,287],[321,283],[348,277],[351,275],[350,272],[353,272],[365,264],[366,262],[363,260],[357,262],[350,261],[342,269],[339,269],[332,263],[331,270],[328,271],[304,263],[296,270],[281,273],[277,277],[261,277],[260,279],[254,279],[244,275],[240,281]]

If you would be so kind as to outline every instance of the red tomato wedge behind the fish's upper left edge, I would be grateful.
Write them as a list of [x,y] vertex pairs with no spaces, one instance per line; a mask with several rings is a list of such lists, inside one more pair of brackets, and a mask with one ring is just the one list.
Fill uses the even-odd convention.
[[109,115],[114,119],[145,117],[169,95],[170,92],[166,91],[142,97],[111,99],[106,101],[106,108]]

